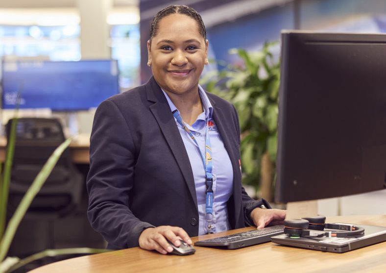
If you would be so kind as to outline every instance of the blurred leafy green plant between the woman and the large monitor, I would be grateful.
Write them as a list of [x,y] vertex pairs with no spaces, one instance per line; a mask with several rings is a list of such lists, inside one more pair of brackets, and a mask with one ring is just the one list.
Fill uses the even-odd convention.
[[241,129],[242,182],[254,186],[267,200],[272,199],[272,181],[277,150],[277,115],[280,62],[271,53],[276,43],[262,50],[232,49],[243,63],[209,73],[202,79],[206,90],[232,102]]

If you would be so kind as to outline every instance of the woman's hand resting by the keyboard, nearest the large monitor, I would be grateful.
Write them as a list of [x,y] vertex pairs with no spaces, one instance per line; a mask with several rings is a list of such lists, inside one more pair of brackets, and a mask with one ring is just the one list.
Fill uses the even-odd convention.
[[283,224],[286,218],[286,211],[282,209],[255,208],[251,212],[251,218],[257,228],[263,228],[268,224]]

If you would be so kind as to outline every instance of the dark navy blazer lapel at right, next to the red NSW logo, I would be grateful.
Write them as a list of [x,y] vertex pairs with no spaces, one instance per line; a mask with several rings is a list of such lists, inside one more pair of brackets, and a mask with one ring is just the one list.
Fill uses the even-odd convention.
[[240,206],[241,206],[241,180],[239,179],[239,176],[237,173],[240,171],[240,166],[238,162],[237,155],[235,154],[234,150],[236,147],[231,144],[231,141],[229,139],[230,135],[234,135],[236,132],[234,131],[233,127],[229,127],[229,117],[226,118],[222,109],[216,106],[216,102],[209,98],[212,106],[214,108],[213,111],[213,119],[215,120],[216,127],[218,129],[218,132],[220,133],[222,142],[224,143],[224,147],[226,151],[228,152],[229,158],[232,163],[232,169],[233,169],[233,196],[235,200],[235,226],[236,223],[239,222],[239,219],[241,217],[240,215]]

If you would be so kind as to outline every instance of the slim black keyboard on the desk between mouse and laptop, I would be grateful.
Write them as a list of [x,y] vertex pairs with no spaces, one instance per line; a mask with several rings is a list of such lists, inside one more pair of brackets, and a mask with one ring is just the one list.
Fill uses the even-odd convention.
[[197,241],[194,246],[224,247],[228,249],[244,248],[271,241],[272,236],[284,233],[284,225],[273,225],[261,229],[243,231],[231,235]]

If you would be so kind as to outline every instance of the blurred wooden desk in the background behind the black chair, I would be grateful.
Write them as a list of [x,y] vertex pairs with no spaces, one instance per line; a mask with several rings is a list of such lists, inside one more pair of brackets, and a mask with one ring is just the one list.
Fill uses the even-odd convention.
[[[5,161],[5,146],[7,139],[0,136],[0,162]],[[90,134],[80,134],[74,137],[70,144],[72,161],[77,164],[89,164]]]

